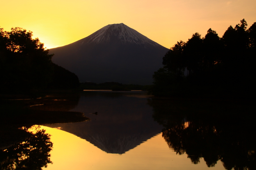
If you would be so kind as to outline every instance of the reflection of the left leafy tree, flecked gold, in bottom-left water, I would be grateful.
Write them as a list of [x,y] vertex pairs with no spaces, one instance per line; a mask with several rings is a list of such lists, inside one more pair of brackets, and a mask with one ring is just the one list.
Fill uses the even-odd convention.
[[50,135],[37,127],[26,141],[0,150],[0,169],[42,169],[52,163],[49,154],[51,150]]

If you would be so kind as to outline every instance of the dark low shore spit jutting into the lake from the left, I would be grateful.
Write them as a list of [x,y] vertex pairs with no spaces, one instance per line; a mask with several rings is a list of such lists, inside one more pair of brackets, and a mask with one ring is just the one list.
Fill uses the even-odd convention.
[[63,99],[61,95],[46,95],[29,99],[28,95],[0,94],[0,99],[0,150],[19,144],[31,136],[31,133],[21,129],[22,127],[90,121],[84,113],[69,112],[72,107],[65,107],[67,103],[76,105],[79,99],[77,96]]

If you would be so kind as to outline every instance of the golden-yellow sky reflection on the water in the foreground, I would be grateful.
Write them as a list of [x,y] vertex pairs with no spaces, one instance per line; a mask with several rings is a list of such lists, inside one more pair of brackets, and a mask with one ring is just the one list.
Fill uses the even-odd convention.
[[[90,142],[68,132],[43,127],[52,134],[53,149],[49,169],[209,169],[204,160],[192,164],[187,155],[176,155],[169,149],[162,133],[148,139],[124,154],[111,154],[102,151]],[[218,161],[214,168],[224,169]]]

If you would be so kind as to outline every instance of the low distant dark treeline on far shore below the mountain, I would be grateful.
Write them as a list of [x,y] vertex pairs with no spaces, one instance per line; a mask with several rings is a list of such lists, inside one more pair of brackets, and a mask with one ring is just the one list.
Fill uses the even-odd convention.
[[113,91],[130,91],[130,90],[149,90],[152,88],[150,85],[125,85],[117,82],[105,82],[105,83],[92,83],[84,82],[80,83],[82,90],[113,90]]

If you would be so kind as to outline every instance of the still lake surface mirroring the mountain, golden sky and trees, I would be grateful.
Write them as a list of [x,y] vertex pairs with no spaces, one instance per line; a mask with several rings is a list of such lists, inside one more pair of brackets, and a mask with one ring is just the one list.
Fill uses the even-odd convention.
[[37,135],[9,150],[42,162],[34,169],[256,169],[253,104],[97,91],[56,107],[84,112],[91,121],[29,129]]

